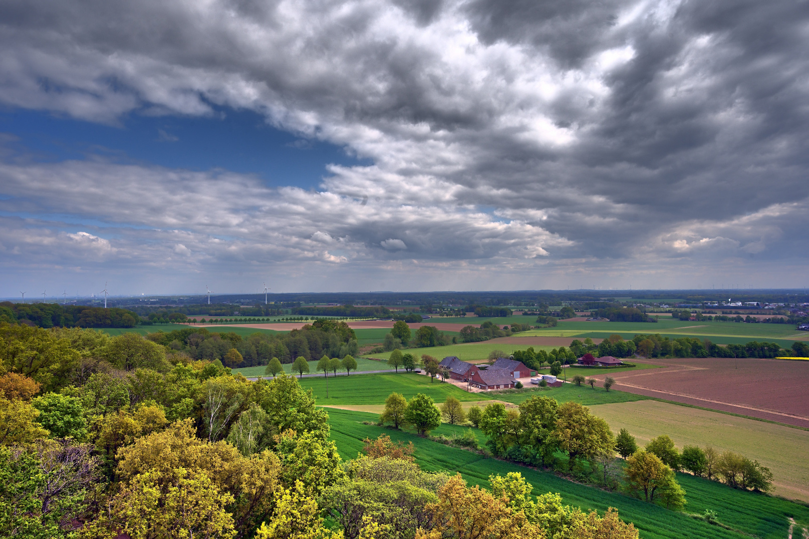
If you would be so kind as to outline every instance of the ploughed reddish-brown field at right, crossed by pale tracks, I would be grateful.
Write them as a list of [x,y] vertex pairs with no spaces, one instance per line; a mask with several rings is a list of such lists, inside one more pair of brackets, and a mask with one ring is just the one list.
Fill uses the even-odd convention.
[[[613,388],[754,418],[809,427],[809,361],[642,359],[663,368],[599,373]],[[737,368],[738,366],[738,368]]]

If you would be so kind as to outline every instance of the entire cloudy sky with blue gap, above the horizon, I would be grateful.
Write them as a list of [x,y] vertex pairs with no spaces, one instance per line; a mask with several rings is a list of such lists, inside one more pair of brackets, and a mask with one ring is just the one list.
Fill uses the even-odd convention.
[[0,296],[809,282],[809,2],[6,0]]

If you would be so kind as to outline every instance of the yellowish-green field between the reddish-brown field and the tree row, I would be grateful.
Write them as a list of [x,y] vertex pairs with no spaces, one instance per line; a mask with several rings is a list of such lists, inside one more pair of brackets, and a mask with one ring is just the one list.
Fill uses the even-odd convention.
[[661,401],[595,405],[591,411],[613,431],[627,429],[640,445],[665,434],[678,448],[709,444],[742,453],[772,470],[775,494],[809,502],[809,461],[795,458],[809,455],[809,431]]

